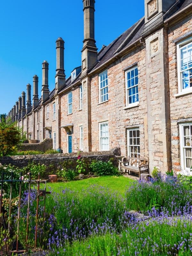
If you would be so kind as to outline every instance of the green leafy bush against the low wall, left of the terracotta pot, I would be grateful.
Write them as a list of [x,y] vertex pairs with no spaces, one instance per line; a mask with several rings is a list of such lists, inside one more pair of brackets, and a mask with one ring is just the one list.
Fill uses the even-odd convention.
[[38,173],[40,172],[40,178],[44,177],[46,166],[44,164],[35,164],[34,162],[29,162],[26,167],[23,168],[25,174],[31,172],[31,179],[35,180],[38,178]]

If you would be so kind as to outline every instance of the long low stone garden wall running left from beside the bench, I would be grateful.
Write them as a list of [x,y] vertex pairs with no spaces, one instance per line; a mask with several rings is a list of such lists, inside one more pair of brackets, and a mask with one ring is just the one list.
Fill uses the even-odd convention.
[[[104,162],[113,158],[113,163],[118,166],[118,159],[116,156],[121,156],[120,148],[113,148],[109,151],[100,152],[81,152],[81,157],[86,159],[87,163],[91,163],[92,160],[101,160]],[[65,154],[42,154],[42,155],[26,155],[26,156],[2,156],[0,157],[0,165],[11,164],[19,168],[25,167],[29,162],[36,164],[44,164],[47,166],[45,178],[49,174],[54,174],[55,170],[60,168],[75,169],[77,154],[65,153]],[[64,163],[64,166],[63,166]]]

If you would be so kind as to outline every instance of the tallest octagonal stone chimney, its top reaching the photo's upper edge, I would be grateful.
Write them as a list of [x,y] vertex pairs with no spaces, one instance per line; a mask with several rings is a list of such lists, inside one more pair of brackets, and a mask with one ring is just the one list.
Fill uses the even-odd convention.
[[97,62],[97,47],[95,41],[95,0],[83,0],[84,11],[84,45],[82,49],[82,73]]

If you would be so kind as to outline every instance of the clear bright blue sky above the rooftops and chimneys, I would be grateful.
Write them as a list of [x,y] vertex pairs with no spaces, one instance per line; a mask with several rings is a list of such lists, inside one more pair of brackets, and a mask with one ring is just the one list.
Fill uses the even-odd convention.
[[[95,10],[100,50],[144,16],[144,0],[96,0]],[[49,62],[49,89],[54,88],[59,36],[65,41],[66,76],[81,65],[82,0],[2,0],[0,24],[0,114],[9,112],[34,75],[39,76],[40,96],[43,60]]]

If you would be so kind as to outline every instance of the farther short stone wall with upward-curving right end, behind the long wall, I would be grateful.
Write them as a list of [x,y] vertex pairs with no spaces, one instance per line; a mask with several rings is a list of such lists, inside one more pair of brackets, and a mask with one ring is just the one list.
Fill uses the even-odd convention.
[[52,139],[45,139],[40,143],[25,143],[20,146],[21,151],[38,150],[45,152],[50,148],[52,148]]

